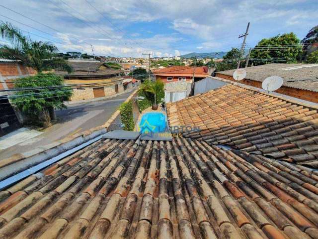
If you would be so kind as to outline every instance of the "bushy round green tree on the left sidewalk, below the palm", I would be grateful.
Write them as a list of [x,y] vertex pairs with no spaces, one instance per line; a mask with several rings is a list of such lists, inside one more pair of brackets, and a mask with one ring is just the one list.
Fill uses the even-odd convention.
[[64,86],[63,78],[53,73],[17,79],[14,87],[20,90],[9,97],[11,103],[27,116],[31,124],[41,126],[49,126],[54,109],[66,108],[64,101],[72,96],[72,89]]

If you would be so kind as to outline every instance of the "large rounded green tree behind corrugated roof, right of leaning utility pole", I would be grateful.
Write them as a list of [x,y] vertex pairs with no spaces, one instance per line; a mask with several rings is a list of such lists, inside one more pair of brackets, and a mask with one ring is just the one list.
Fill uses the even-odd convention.
[[281,63],[282,59],[286,63],[297,63],[301,56],[302,45],[297,36],[291,33],[277,35],[271,38],[264,38],[257,43],[251,52],[251,58],[269,59],[264,61],[255,61],[254,65],[268,63]]

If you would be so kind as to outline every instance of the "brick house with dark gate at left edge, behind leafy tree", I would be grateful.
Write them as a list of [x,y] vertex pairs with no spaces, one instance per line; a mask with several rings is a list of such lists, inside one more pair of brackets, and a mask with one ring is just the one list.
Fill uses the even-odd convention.
[[20,123],[23,123],[18,112],[10,105],[10,92],[6,90],[14,88],[14,80],[35,74],[34,69],[24,66],[17,60],[0,59],[0,136],[19,128]]

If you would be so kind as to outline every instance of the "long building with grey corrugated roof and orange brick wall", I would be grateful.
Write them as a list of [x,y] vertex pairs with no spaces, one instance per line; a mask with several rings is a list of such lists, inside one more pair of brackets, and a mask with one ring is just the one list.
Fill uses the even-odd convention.
[[[318,64],[267,64],[244,68],[246,77],[239,83],[262,88],[262,82],[269,76],[280,76],[284,83],[275,92],[318,103]],[[235,81],[236,69],[220,71],[216,77]]]

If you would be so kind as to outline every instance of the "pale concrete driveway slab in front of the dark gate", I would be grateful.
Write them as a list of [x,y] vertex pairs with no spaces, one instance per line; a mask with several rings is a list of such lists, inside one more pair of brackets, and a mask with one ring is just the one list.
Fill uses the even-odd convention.
[[19,128],[11,133],[0,137],[0,150],[6,149],[25,140],[34,138],[43,132],[29,128]]

